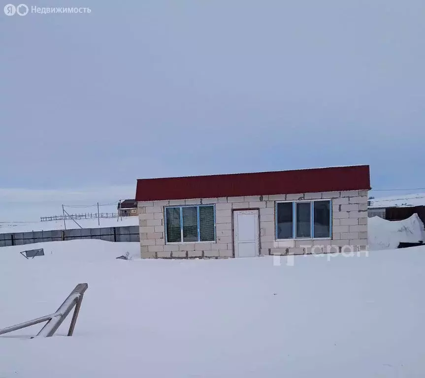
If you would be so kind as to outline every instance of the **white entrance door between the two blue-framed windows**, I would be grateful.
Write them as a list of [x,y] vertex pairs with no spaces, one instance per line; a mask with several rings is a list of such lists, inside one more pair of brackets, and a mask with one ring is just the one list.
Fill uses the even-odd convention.
[[236,210],[233,212],[233,239],[235,257],[259,255],[258,210]]

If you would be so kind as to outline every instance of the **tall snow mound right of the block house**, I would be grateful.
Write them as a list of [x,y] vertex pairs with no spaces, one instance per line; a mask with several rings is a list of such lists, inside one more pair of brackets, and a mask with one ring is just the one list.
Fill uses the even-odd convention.
[[413,214],[403,221],[372,217],[367,222],[370,250],[396,249],[399,243],[425,241],[424,223]]

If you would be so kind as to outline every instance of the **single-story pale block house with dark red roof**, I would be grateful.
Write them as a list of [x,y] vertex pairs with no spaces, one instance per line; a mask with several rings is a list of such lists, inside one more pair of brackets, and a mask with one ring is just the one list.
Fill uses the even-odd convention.
[[142,258],[367,248],[368,165],[137,180]]

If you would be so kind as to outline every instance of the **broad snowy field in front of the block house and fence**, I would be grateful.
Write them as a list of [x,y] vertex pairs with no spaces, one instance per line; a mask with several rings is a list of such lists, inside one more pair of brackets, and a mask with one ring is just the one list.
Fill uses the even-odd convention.
[[[43,247],[45,256],[20,251]],[[87,282],[74,336],[0,336],[0,377],[424,377],[425,247],[368,256],[117,260],[137,243],[0,249],[0,327]]]

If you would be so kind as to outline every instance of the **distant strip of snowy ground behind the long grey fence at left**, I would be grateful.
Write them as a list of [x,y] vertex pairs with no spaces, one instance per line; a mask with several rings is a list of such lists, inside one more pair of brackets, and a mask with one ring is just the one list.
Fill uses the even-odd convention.
[[[98,219],[78,219],[78,224],[83,228],[98,228]],[[119,227],[119,226],[137,226],[139,224],[138,217],[120,217],[117,218],[100,218],[100,227]],[[79,228],[74,221],[67,220],[66,228]],[[47,231],[47,230],[63,230],[64,221],[45,221],[45,222],[0,222],[0,233],[12,232],[28,232],[28,231]]]

